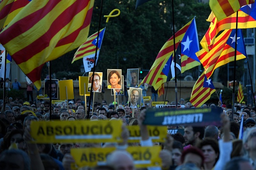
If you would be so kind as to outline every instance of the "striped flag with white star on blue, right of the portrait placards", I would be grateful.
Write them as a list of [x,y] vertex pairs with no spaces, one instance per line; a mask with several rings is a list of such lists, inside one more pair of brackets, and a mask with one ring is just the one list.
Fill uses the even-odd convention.
[[[181,41],[181,49],[183,49],[181,51],[181,73],[184,73],[184,71],[200,65],[200,62],[195,55],[195,52],[199,50],[199,43],[194,18],[175,33],[176,49],[178,48],[179,40]],[[147,83],[153,85],[155,89],[159,89],[162,84],[166,82],[169,70],[165,73],[162,70],[166,66],[166,63],[169,61],[173,52],[174,47],[172,36],[164,46],[162,46],[162,49],[159,51],[149,73],[141,83]],[[168,67],[170,68],[170,66]]]

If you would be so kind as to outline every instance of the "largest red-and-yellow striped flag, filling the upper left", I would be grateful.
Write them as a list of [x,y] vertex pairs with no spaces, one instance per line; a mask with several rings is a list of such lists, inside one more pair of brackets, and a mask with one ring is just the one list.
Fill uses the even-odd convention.
[[87,39],[93,5],[94,0],[32,0],[0,33],[0,43],[37,89],[44,63]]

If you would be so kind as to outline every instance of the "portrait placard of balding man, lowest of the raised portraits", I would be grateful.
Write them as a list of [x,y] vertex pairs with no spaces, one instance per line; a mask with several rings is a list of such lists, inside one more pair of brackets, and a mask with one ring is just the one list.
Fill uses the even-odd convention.
[[142,94],[142,88],[130,88],[128,106],[131,108],[140,108],[141,96],[142,96],[141,94]]

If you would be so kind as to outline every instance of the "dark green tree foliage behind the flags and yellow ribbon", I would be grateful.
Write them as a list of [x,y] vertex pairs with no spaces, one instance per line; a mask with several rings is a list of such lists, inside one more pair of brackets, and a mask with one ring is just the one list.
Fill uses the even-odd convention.
[[[95,1],[90,33],[98,30],[100,18],[100,0]],[[155,58],[172,36],[172,1],[152,0],[135,10],[136,0],[104,0],[101,26],[106,25],[106,32],[100,51],[96,71],[105,73],[107,69],[122,69],[123,75],[128,68],[149,70]],[[106,18],[112,9],[120,9],[121,14]],[[210,13],[208,3],[198,3],[197,0],[174,0],[175,32],[196,16],[199,40],[209,27],[206,18]],[[84,39],[86,40],[86,39]],[[71,64],[76,50],[69,52],[52,62],[52,73],[61,71],[80,72],[82,60]],[[126,60],[125,60],[126,59]],[[48,74],[45,66],[42,78]],[[82,75],[82,73],[81,73]],[[106,79],[106,77],[103,77]]]

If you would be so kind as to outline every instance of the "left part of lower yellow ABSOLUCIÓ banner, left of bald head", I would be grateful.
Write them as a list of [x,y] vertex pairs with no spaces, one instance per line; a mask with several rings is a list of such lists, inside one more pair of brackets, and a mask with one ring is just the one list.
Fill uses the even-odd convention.
[[105,165],[106,157],[116,148],[74,148],[70,153],[78,167]]

